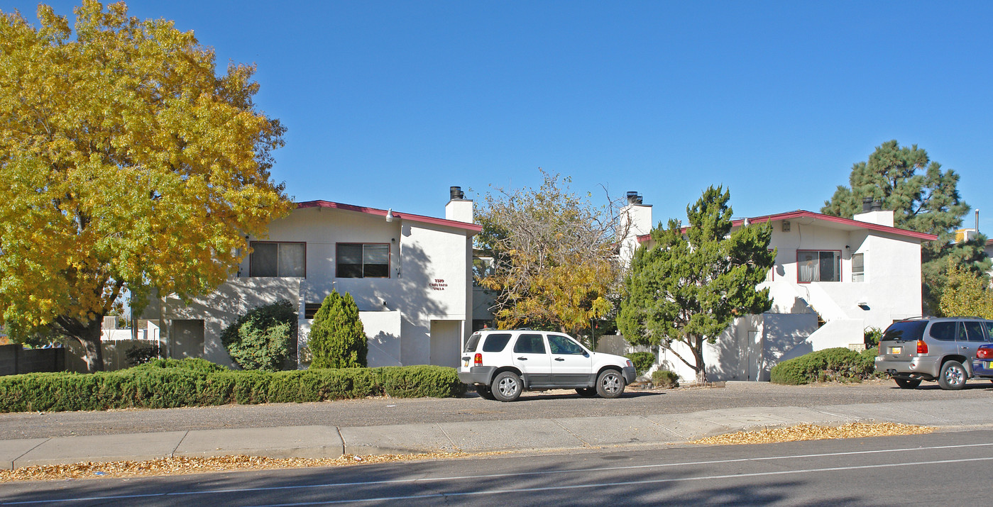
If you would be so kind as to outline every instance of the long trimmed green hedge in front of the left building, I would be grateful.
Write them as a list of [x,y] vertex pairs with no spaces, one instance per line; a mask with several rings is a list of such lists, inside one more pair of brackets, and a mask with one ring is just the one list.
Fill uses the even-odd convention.
[[454,368],[389,366],[300,371],[234,371],[203,359],[156,359],[99,373],[0,377],[0,412],[63,412],[207,405],[302,403],[391,396],[459,396]]

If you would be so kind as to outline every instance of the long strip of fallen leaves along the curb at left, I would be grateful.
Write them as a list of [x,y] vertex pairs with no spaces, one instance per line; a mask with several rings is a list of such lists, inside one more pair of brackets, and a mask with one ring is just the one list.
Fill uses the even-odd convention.
[[16,470],[0,470],[0,482],[12,480],[55,480],[95,477],[151,477],[183,473],[262,470],[267,468],[302,468],[310,466],[348,466],[355,464],[438,459],[501,454],[503,452],[422,452],[417,454],[345,454],[337,458],[219,456],[173,456],[145,461],[84,461],[74,464],[25,466]]

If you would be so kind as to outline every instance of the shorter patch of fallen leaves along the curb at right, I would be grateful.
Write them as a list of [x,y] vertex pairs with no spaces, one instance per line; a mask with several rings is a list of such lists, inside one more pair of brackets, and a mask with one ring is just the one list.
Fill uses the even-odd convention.
[[841,426],[797,425],[755,432],[738,432],[691,441],[689,444],[734,445],[774,444],[777,442],[826,441],[832,439],[861,439],[896,435],[922,435],[933,432],[926,426],[899,423],[848,423]]

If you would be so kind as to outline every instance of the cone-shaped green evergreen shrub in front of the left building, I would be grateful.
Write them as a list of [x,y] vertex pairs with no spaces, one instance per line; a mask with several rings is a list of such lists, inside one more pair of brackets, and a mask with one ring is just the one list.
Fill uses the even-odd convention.
[[314,316],[307,346],[312,368],[363,368],[368,343],[352,295],[332,291]]

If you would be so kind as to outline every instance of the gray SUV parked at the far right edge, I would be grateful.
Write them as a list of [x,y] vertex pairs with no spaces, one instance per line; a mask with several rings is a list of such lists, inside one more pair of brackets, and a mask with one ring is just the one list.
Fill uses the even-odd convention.
[[876,371],[903,389],[936,380],[941,389],[961,389],[972,378],[972,358],[993,338],[993,320],[932,317],[893,322],[883,332]]

